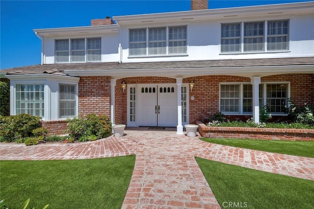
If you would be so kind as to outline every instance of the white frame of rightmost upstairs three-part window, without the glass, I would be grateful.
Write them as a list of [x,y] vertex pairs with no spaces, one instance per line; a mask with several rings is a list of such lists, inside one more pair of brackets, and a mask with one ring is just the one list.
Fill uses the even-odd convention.
[[[276,35],[268,35],[268,23],[270,22],[277,22],[277,21],[287,21],[288,22],[288,34],[276,34]],[[248,50],[248,51],[244,51],[244,24],[245,23],[258,23],[258,22],[263,22],[264,23],[264,34],[263,36],[250,36],[251,38],[256,38],[256,37],[263,37],[263,50]],[[240,37],[236,37],[236,38],[240,38],[240,50],[239,51],[223,51],[222,50],[222,40],[225,39],[230,39],[230,38],[226,38],[226,37],[222,37],[222,25],[225,24],[237,24],[240,23]],[[220,50],[220,54],[252,54],[252,53],[273,53],[273,52],[286,52],[289,50],[290,48],[290,41],[289,41],[289,33],[290,33],[290,20],[289,19],[280,19],[280,20],[256,20],[256,21],[252,21],[252,22],[234,22],[234,23],[220,23],[220,44],[219,44],[219,50]],[[286,49],[268,49],[268,43],[267,43],[267,39],[271,38],[271,37],[287,37],[287,48]],[[234,38],[234,37],[233,37]],[[248,37],[249,38],[249,37]]]

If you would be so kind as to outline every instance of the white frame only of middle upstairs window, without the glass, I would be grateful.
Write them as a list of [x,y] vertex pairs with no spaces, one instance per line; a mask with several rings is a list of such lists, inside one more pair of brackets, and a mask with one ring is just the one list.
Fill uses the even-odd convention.
[[[186,39],[183,39],[183,41],[185,41],[186,43],[186,50],[184,53],[169,53],[169,27],[186,27]],[[161,42],[161,41],[150,41],[149,40],[149,29],[155,29],[155,28],[166,28],[166,53],[165,54],[150,54],[149,52],[149,44],[153,43],[153,42]],[[146,30],[146,42],[141,41],[141,42],[131,42],[131,30],[139,30],[139,29],[145,29]],[[172,40],[174,41],[178,41],[178,40]],[[164,41],[162,41],[164,42]],[[171,41],[170,41],[171,42]],[[146,54],[131,54],[131,44],[146,44]],[[186,55],[187,54],[187,25],[171,25],[171,26],[160,26],[160,27],[145,27],[145,28],[129,28],[129,57],[156,57],[156,56],[176,56],[176,55]]]

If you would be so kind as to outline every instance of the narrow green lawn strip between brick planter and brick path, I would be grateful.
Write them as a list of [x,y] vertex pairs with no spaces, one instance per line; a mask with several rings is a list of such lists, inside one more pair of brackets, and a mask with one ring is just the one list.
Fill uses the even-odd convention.
[[314,141],[201,138],[215,144],[314,158]]

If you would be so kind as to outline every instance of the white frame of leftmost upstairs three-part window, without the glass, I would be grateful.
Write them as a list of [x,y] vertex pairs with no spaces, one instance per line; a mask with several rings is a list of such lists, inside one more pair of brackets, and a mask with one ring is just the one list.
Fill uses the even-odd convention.
[[[72,50],[72,40],[77,40],[77,39],[84,39],[84,61],[72,61],[72,51],[83,51],[83,50]],[[100,49],[87,49],[87,40],[88,39],[100,39]],[[56,41],[58,40],[67,40],[68,41],[68,50],[56,50]],[[100,60],[93,60],[89,61],[88,60],[88,51],[92,50],[100,50],[101,55],[100,55]],[[57,62],[57,52],[68,52],[68,61],[66,62]],[[54,63],[56,64],[62,64],[62,63],[92,63],[92,62],[102,62],[102,37],[88,37],[88,38],[66,38],[66,39],[55,39],[54,40]]]

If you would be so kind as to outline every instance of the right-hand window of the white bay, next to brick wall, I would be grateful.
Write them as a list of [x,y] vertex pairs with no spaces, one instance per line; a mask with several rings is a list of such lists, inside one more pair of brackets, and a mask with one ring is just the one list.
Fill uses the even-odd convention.
[[60,117],[76,116],[76,85],[59,85],[59,115]]

